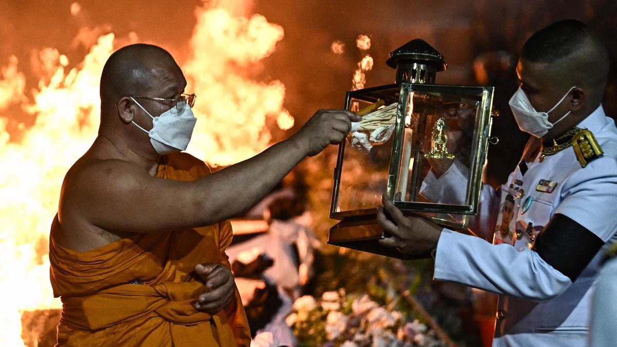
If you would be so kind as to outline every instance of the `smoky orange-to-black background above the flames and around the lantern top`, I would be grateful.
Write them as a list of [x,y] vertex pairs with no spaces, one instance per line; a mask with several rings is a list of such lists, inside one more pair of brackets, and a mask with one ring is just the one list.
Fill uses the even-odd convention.
[[[197,0],[177,1],[80,1],[79,15],[70,13],[73,1],[0,2],[0,66],[17,56],[19,69],[29,88],[38,83],[41,67],[36,54],[45,47],[66,54],[77,64],[98,35],[114,32],[120,40],[131,31],[139,41],[159,44],[180,65],[188,55]],[[355,46],[358,35],[369,35],[367,51],[375,65],[366,73],[366,86],[392,83],[394,70],[386,66],[387,54],[414,38],[422,38],[441,52],[448,69],[437,74],[437,83],[492,85],[494,106],[502,116],[495,120],[494,135],[500,143],[489,153],[487,180],[502,182],[518,161],[527,136],[521,134],[507,107],[517,88],[514,66],[526,38],[556,20],[574,18],[588,23],[610,46],[611,61],[617,56],[617,4],[595,1],[512,0],[394,0],[394,1],[245,1],[247,14],[264,15],[284,28],[276,51],[262,61],[263,69],[252,72],[256,80],[281,80],[286,86],[285,106],[296,118],[293,132],[319,108],[342,107],[350,89],[352,73],[365,52]],[[212,4],[206,1],[205,6]],[[330,45],[345,43],[343,54],[333,54]],[[474,59],[488,75],[474,75]],[[505,64],[510,59],[510,64]],[[611,71],[605,109],[617,114],[617,76]],[[27,88],[27,90],[29,90]],[[7,129],[19,138],[17,124],[30,125],[31,115],[10,110]],[[275,140],[289,135],[273,130]]]

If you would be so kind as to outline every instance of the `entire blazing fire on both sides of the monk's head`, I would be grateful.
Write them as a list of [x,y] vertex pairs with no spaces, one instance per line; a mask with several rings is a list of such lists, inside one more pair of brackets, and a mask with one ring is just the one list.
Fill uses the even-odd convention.
[[[187,91],[198,96],[194,112],[199,121],[188,151],[215,165],[265,149],[271,141],[268,120],[283,130],[294,124],[283,107],[283,83],[255,82],[246,73],[275,51],[283,28],[261,15],[247,16],[242,2],[224,6],[197,9],[191,54],[183,66]],[[75,15],[82,9],[74,2],[70,10]],[[22,312],[60,307],[49,284],[49,227],[65,173],[96,137],[101,70],[119,46],[113,33],[102,35],[70,70],[66,56],[44,49],[39,56],[46,73],[31,99],[17,58],[0,70],[0,158],[7,165],[0,172],[0,295],[6,299],[0,306],[2,346],[23,346]],[[19,140],[7,130],[14,104],[36,118],[30,128],[20,125]]]

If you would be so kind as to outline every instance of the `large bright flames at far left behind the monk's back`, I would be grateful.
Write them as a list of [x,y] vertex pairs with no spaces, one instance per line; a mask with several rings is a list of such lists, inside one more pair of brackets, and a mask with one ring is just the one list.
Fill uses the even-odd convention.
[[[97,81],[113,41],[112,34],[99,38],[81,69],[68,73],[62,66],[68,64],[66,57],[51,49],[43,51],[43,67],[52,72],[51,77],[49,82],[41,80],[33,104],[22,100],[23,109],[36,115],[36,122],[19,143],[9,142],[4,127],[7,118],[0,117],[0,157],[8,167],[0,172],[0,195],[6,197],[0,200],[0,293],[7,298],[0,307],[1,345],[23,345],[21,312],[60,307],[49,284],[49,225],[57,211],[64,174],[96,136]],[[0,85],[19,86],[23,75],[12,73],[16,59],[10,64]],[[19,92],[15,88],[12,95]],[[12,99],[6,88],[0,93],[3,99]]]

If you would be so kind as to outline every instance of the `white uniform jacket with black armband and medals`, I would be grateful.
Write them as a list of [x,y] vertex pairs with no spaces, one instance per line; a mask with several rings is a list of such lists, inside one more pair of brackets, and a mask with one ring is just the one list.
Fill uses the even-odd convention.
[[[602,106],[577,127],[595,135],[603,156],[583,168],[573,148],[543,161],[524,155],[499,190],[482,186],[470,222],[481,237],[444,229],[439,238],[434,279],[500,294],[494,346],[587,345],[598,249],[617,240],[617,128]],[[466,180],[463,170],[452,165],[423,194],[447,194],[448,186]],[[516,197],[513,220],[522,233],[511,233],[510,244],[492,245],[486,240],[495,234],[505,192]],[[564,220],[576,230],[560,227]]]

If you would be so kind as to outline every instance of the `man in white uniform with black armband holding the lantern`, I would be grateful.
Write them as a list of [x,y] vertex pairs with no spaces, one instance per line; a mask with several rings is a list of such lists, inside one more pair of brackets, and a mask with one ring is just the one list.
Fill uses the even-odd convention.
[[[405,217],[383,199],[378,222],[391,236],[382,245],[432,250],[434,279],[499,294],[494,346],[587,345],[602,248],[617,240],[617,128],[601,104],[609,65],[607,48],[576,20],[553,23],[524,44],[510,107],[533,136],[505,185],[482,186],[470,222],[480,237]],[[456,196],[467,168],[456,160],[445,167],[422,194]],[[515,230],[495,233],[506,196],[515,198],[508,220]]]

